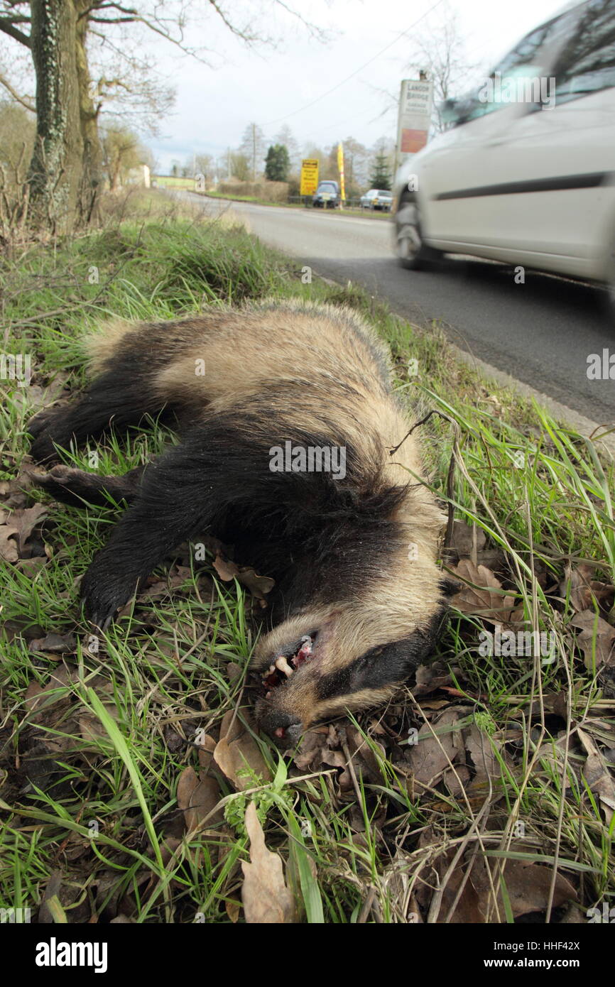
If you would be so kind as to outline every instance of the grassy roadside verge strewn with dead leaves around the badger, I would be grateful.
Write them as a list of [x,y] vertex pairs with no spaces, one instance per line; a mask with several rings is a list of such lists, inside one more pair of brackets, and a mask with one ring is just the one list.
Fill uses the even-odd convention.
[[[0,904],[59,922],[243,921],[252,802],[302,921],[585,921],[612,906],[615,485],[593,444],[488,386],[437,328],[303,284],[242,228],[156,196],[3,275],[5,352],[30,354],[33,378],[2,382]],[[241,584],[180,550],[92,641],[77,582],[115,506],[52,505],[22,471],[30,414],[82,385],[79,340],[99,320],[267,295],[361,310],[409,408],[446,417],[423,434],[463,586],[416,685],[284,760],[250,725]],[[170,440],[152,422],[66,461],[123,473]],[[489,653],[497,624],[549,648]]]

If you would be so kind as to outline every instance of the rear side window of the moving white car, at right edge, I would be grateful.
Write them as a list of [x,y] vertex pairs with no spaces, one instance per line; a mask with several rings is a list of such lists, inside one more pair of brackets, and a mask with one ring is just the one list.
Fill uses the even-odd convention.
[[556,106],[615,86],[615,0],[590,0],[554,74]]

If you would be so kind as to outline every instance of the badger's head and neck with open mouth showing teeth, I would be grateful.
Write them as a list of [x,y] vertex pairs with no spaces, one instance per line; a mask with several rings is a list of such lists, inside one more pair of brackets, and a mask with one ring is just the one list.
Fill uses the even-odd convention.
[[279,746],[386,701],[431,652],[448,589],[435,565],[441,515],[424,491],[415,507],[411,522],[372,516],[320,531],[286,572],[283,619],[253,658],[257,721]]

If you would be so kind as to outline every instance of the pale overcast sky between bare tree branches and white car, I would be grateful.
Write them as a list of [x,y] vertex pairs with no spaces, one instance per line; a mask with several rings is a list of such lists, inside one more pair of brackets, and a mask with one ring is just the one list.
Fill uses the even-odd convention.
[[[318,43],[294,18],[271,5],[264,8],[268,16],[260,26],[284,37],[273,48],[247,49],[214,15],[198,26],[191,43],[207,44],[214,52],[214,67],[177,56],[164,42],[156,42],[160,70],[177,88],[174,111],[163,121],[161,135],[146,139],[162,170],[168,170],[173,159],[184,162],[193,152],[217,157],[227,147],[237,147],[252,120],[268,138],[287,123],[300,147],[308,142],[326,146],[348,134],[367,146],[380,136],[394,137],[395,114],[382,115],[387,106],[382,91],[397,92],[400,80],[414,75],[408,72],[412,38],[436,29],[447,16],[447,6],[457,12],[469,62],[484,72],[564,4],[563,0],[294,0],[293,6],[312,23],[329,29],[330,40]],[[229,9],[239,18],[246,7],[234,0]],[[352,73],[356,74],[343,82]],[[339,83],[343,84],[335,92],[324,95]]]

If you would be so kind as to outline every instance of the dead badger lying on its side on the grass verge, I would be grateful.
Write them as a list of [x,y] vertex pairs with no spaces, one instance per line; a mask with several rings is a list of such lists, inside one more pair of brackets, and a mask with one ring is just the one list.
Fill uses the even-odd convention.
[[182,436],[141,476],[64,466],[39,479],[69,502],[129,502],[82,581],[89,620],[115,610],[170,552],[209,532],[272,576],[253,667],[261,727],[282,744],[388,699],[428,655],[444,609],[442,514],[417,481],[388,351],[353,312],[304,303],[112,323],[88,342],[81,400],[30,423],[32,455],[174,416]]

